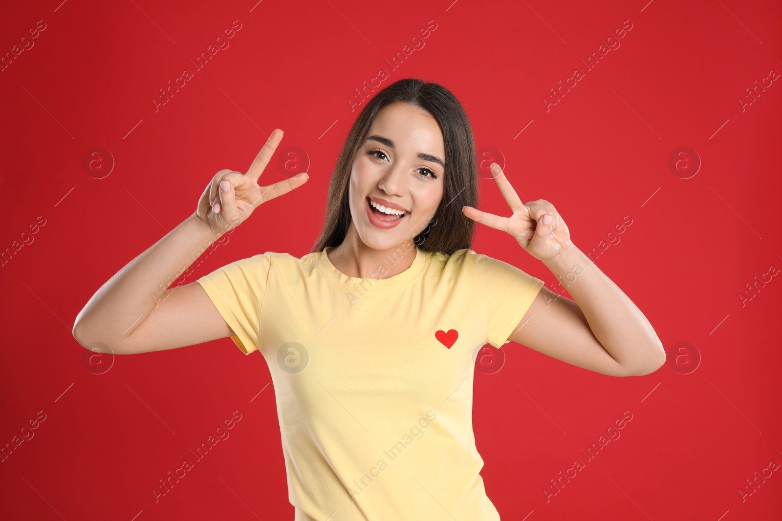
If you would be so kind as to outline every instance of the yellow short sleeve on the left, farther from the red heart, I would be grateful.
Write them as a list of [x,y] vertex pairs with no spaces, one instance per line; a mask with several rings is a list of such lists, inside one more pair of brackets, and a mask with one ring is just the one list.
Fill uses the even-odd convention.
[[267,252],[231,262],[196,280],[234,331],[231,340],[245,355],[260,348],[260,311],[270,272]]

